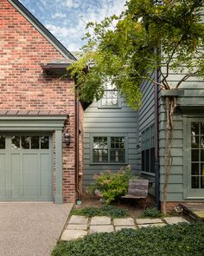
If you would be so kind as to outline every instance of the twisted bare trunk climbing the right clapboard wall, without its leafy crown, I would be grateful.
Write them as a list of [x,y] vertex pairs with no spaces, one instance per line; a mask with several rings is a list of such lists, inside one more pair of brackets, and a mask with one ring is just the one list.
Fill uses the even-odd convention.
[[165,141],[165,154],[164,154],[164,183],[163,183],[163,213],[167,213],[167,186],[169,181],[170,169],[172,166],[172,157],[171,157],[171,144],[173,141],[173,115],[176,106],[175,97],[166,97],[166,141]]

